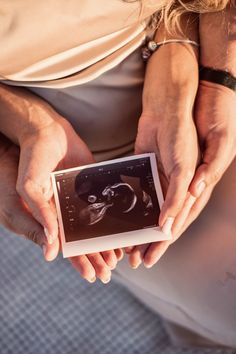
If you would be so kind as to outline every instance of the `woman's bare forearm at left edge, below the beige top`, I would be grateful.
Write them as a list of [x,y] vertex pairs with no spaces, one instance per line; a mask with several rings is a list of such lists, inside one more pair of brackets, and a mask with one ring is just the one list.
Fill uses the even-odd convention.
[[55,119],[53,109],[38,96],[0,83],[0,132],[15,144]]

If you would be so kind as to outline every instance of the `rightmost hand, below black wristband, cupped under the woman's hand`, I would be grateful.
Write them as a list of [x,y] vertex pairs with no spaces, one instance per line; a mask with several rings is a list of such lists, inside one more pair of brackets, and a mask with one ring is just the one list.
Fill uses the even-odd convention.
[[[215,107],[214,110],[212,107]],[[201,83],[199,86],[195,121],[198,128],[199,140],[202,146],[203,157],[194,178],[189,186],[188,196],[194,196],[194,202],[188,206],[186,198],[186,219],[184,214],[177,215],[173,224],[171,241],[163,241],[134,249],[128,249],[129,260],[133,268],[144,262],[147,268],[158,262],[167,248],[175,242],[186,228],[197,218],[207,204],[214,187],[220,181],[224,172],[236,155],[236,98],[235,94],[226,88],[212,83]],[[208,117],[208,124],[206,124]],[[198,185],[204,181],[204,190],[199,194]]]

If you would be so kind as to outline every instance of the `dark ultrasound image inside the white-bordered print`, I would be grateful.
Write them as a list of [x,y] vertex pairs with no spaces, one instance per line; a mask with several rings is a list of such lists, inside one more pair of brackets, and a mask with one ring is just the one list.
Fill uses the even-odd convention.
[[150,157],[118,161],[54,175],[66,243],[158,226]]

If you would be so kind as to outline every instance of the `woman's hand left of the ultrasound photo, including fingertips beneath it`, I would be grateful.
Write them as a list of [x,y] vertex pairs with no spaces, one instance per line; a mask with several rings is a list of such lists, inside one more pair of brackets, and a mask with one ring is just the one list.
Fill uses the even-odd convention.
[[[54,113],[56,114],[56,113]],[[94,162],[91,152],[63,118],[56,119],[38,129],[35,134],[24,135],[21,141],[17,191],[34,218],[44,227],[48,237],[45,258],[52,259],[58,252],[58,224],[52,203],[50,173],[56,169],[71,168]],[[96,276],[104,283],[111,278],[121,250],[111,250],[71,258],[71,263],[88,281]]]

